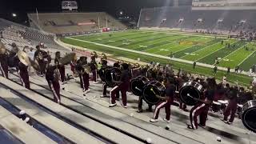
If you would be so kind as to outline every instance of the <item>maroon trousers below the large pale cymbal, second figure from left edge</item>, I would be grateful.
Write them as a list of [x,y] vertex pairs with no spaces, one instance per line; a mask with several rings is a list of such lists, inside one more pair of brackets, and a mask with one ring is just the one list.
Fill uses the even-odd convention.
[[22,81],[22,86],[30,89],[30,78],[27,71],[28,66],[24,65],[22,62],[18,62],[18,74]]

